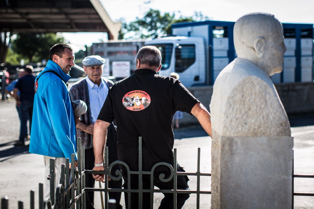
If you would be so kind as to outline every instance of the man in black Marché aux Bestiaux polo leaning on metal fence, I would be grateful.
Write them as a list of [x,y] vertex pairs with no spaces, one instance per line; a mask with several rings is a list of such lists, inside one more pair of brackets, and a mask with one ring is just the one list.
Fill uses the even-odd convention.
[[[207,109],[177,79],[160,76],[161,53],[154,46],[142,47],[136,56],[135,73],[115,83],[109,90],[94,128],[95,167],[104,170],[104,146],[107,128],[115,120],[118,133],[118,157],[127,163],[131,171],[138,171],[138,137],[143,138],[143,170],[150,171],[159,162],[173,166],[173,115],[176,111],[194,115],[211,135],[210,114]],[[179,165],[178,171],[183,171]],[[175,168],[174,166],[174,168]],[[173,189],[173,180],[161,182],[159,174],[169,175],[165,166],[155,169],[154,185],[160,189]],[[138,176],[127,179],[122,167],[125,188],[138,188]],[[95,180],[104,181],[104,175],[94,175]],[[186,190],[187,176],[177,176],[177,189]],[[150,188],[149,176],[143,175],[143,189]],[[160,208],[173,208],[173,194],[165,193]],[[127,195],[125,195],[127,196]],[[177,208],[181,208],[189,194],[177,194]],[[131,195],[131,208],[138,208],[138,193]],[[143,193],[143,208],[149,208],[149,193]],[[126,200],[127,206],[127,200]]]

